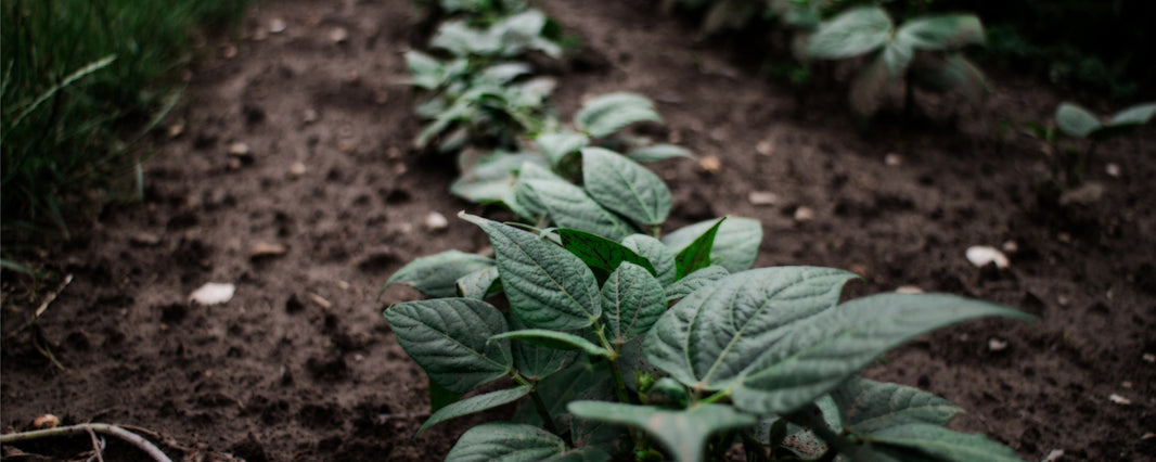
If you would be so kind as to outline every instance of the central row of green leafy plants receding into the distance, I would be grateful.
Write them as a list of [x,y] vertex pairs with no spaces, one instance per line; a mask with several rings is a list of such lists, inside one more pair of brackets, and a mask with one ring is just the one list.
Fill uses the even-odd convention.
[[[563,127],[546,94],[531,90],[541,84],[528,67],[505,61],[517,53],[468,51],[487,43],[482,36],[502,43],[510,22],[528,23],[518,17],[533,10],[503,17],[490,14],[494,2],[449,3],[464,16],[431,43],[451,57],[407,57],[415,85],[428,91],[418,112],[431,119],[416,142],[458,152],[455,194],[502,203],[524,223],[462,213],[489,237],[492,256],[445,251],[385,284],[429,297],[384,311],[429,378],[433,412],[420,432],[516,407],[507,422],[468,430],[446,460],[698,461],[735,447],[751,461],[1018,460],[984,435],[948,429],[962,411],[955,404],[858,372],[936,328],[1030,316],[949,295],[840,304],[852,273],[751,269],[763,240],[756,219],[664,234],[672,194],[639,162],[689,152],[621,133],[660,120],[650,100],[598,97]],[[546,29],[549,20],[538,17]],[[520,30],[542,38],[543,29]],[[472,38],[447,42],[451,33]],[[535,104],[511,104],[526,91]]]

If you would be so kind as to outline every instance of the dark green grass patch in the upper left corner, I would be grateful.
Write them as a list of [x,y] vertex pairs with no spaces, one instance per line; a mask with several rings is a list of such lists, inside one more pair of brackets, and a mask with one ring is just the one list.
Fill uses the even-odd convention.
[[251,2],[2,3],[5,256],[67,238],[69,223],[140,194],[134,143],[179,99],[194,33],[234,23]]

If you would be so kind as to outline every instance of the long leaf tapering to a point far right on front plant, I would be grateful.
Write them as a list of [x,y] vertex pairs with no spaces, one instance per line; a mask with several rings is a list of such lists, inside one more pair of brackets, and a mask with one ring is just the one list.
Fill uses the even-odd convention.
[[[697,292],[696,292],[697,293]],[[907,340],[981,316],[1031,319],[1018,311],[943,295],[881,293],[799,320],[763,345],[734,389],[734,403],[755,413],[807,404]]]

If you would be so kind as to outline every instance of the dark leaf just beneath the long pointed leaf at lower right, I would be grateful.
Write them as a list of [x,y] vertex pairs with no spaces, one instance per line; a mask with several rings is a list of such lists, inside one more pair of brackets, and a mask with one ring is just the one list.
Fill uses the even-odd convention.
[[853,377],[831,392],[844,427],[854,434],[911,423],[947,425],[963,409],[918,388]]

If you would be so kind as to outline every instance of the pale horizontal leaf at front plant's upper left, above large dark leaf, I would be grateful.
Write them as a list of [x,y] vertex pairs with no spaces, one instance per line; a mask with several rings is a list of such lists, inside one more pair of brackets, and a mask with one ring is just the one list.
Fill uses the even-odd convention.
[[494,259],[445,251],[436,255],[418,258],[406,264],[381,286],[406,284],[429,297],[453,297],[458,292],[457,282],[462,276],[494,267]]

